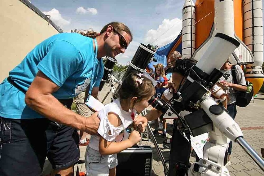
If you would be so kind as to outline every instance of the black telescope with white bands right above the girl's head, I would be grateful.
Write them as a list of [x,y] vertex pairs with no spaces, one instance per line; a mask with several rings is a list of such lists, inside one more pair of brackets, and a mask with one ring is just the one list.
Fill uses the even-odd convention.
[[[153,57],[155,51],[151,49],[151,45],[144,45],[140,43],[136,53],[134,54],[132,60],[129,62],[129,65],[125,71],[124,76],[121,79],[121,82],[123,82],[123,79],[129,75],[129,73],[133,71],[139,71],[140,73],[145,72],[145,68],[147,68],[148,63],[150,62],[151,58]],[[117,99],[118,95],[117,92],[120,88],[121,84],[118,85],[115,93],[113,94],[113,99]]]

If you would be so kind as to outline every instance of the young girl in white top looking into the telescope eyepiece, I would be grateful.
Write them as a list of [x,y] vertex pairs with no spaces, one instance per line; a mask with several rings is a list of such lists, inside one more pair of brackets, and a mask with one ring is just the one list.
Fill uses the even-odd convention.
[[[116,143],[116,137],[133,122],[136,112],[148,107],[148,100],[155,94],[152,81],[138,72],[130,73],[118,90],[119,98],[107,104],[97,116],[100,118],[99,136],[92,135],[86,148],[85,164],[87,176],[114,176],[117,153],[132,147],[141,139],[134,130],[128,139]],[[124,134],[125,136],[125,134]],[[118,140],[120,141],[120,140]]]

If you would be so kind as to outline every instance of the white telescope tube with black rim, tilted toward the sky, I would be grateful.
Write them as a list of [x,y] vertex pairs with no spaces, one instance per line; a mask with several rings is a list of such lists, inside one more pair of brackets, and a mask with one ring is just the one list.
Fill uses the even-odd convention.
[[217,33],[196,64],[196,67],[210,75],[214,68],[220,69],[240,43],[233,37]]

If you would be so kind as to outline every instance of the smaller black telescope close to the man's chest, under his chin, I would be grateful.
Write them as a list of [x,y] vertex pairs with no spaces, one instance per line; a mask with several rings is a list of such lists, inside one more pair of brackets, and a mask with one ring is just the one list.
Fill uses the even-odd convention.
[[99,91],[103,89],[105,82],[108,80],[108,74],[112,73],[116,62],[117,59],[108,56],[106,57],[106,60],[103,65],[103,77],[99,85]]

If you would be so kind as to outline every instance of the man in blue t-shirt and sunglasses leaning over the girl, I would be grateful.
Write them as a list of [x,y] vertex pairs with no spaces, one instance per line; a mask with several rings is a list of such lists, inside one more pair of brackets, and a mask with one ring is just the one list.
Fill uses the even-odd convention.
[[[97,98],[101,57],[124,53],[132,34],[112,22],[100,33],[61,33],[30,51],[0,85],[0,175],[70,175],[80,157],[76,129],[96,134],[97,114],[82,117],[61,102],[86,90]],[[89,97],[89,96],[88,96]]]

